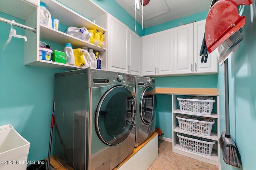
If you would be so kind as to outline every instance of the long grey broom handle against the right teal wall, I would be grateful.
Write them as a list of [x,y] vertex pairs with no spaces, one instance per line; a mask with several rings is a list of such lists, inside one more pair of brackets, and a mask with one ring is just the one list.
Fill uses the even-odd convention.
[[224,81],[225,81],[225,121],[226,135],[230,135],[229,131],[229,90],[228,90],[228,59],[224,61]]

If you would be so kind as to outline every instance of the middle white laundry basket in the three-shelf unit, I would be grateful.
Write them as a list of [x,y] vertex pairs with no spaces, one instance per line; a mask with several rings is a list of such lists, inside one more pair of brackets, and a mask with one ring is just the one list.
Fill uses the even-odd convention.
[[211,117],[200,117],[192,115],[177,115],[181,131],[210,136],[212,125],[215,123]]

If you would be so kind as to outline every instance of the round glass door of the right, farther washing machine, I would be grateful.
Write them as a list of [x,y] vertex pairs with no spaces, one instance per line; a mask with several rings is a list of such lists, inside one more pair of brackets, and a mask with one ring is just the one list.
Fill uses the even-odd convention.
[[140,118],[143,123],[150,125],[156,113],[156,92],[148,86],[140,98]]

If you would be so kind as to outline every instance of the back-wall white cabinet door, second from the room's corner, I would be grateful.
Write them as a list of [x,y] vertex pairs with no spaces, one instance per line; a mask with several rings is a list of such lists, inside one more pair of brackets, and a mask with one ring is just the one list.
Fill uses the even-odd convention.
[[157,33],[157,74],[174,74],[174,29]]

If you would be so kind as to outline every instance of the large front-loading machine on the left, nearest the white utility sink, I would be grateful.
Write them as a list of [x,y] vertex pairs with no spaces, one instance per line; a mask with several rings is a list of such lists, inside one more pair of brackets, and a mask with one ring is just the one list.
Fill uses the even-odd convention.
[[134,150],[134,76],[96,69],[55,74],[55,154],[75,170],[112,170]]

